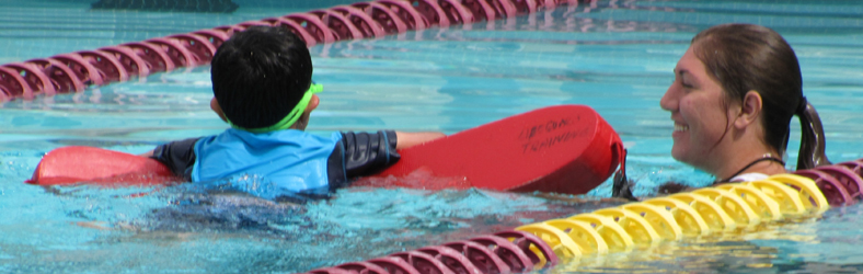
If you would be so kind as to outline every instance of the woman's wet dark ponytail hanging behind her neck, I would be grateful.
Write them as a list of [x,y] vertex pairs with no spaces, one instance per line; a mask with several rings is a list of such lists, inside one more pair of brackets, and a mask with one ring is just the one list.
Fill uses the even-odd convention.
[[797,170],[830,164],[824,151],[826,139],[821,118],[818,117],[815,106],[803,96],[794,114],[801,119],[801,150],[797,155]]

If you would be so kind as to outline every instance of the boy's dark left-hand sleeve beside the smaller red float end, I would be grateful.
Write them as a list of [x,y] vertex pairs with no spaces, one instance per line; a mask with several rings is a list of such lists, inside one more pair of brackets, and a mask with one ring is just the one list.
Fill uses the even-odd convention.
[[195,142],[198,139],[188,138],[158,146],[150,158],[168,165],[175,175],[191,181],[192,165],[195,164]]

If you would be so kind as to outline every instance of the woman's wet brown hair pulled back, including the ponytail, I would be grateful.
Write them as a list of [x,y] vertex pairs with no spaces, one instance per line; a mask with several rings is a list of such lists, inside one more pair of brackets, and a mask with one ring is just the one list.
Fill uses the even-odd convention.
[[751,90],[761,95],[766,145],[784,155],[791,117],[797,115],[797,169],[830,164],[818,113],[803,96],[797,57],[779,33],[759,25],[723,24],[702,31],[691,44],[709,75],[722,84],[727,102],[743,102]]

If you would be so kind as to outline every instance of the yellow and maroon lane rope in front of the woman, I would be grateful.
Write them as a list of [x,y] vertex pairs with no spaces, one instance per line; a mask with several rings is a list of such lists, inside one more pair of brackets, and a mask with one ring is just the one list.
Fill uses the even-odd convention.
[[308,273],[530,272],[589,254],[632,251],[699,236],[739,233],[785,218],[818,216],[831,205],[856,203],[863,190],[861,176],[863,159],[653,197]]

